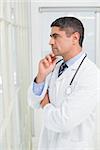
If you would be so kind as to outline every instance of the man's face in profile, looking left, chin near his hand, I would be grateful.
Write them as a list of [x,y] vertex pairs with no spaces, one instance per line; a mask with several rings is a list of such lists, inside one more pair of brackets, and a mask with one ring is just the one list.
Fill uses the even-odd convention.
[[52,27],[51,39],[49,44],[51,45],[52,51],[56,56],[66,56],[72,53],[73,46],[75,45],[75,37],[73,34],[69,37],[65,31],[60,30],[59,27]]

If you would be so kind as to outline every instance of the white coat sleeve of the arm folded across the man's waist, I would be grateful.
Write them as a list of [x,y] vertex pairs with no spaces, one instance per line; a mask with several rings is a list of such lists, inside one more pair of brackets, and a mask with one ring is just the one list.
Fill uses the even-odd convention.
[[44,126],[54,132],[72,130],[93,114],[98,100],[100,100],[100,74],[95,79],[94,75],[85,78],[83,75],[72,94],[59,108],[52,103],[44,107]]

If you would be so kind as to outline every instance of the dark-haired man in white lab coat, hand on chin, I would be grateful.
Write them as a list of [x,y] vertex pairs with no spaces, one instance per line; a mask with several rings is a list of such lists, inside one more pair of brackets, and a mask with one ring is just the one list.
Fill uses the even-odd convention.
[[44,113],[38,149],[92,150],[100,71],[82,50],[83,24],[74,17],[58,18],[50,36],[52,52],[40,61],[28,91],[29,105]]

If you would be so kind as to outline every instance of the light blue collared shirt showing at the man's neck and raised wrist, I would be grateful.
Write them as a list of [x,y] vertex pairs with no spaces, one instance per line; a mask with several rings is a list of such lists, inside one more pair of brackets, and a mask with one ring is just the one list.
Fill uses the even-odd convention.
[[[84,53],[84,51],[80,52],[75,57],[73,57],[70,60],[66,61],[66,65],[68,67],[73,65],[83,55],[83,53]],[[33,81],[33,92],[34,92],[34,94],[40,96],[42,94],[43,88],[44,88],[44,82],[36,83],[36,82]]]

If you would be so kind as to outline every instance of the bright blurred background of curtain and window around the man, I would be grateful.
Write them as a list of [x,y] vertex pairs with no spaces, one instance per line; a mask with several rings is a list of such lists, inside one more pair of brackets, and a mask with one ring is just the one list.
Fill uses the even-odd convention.
[[[42,110],[27,103],[39,60],[50,52],[50,24],[75,16],[85,27],[83,49],[100,68],[99,0],[0,0],[0,150],[37,150]],[[95,150],[100,150],[98,105]]]

